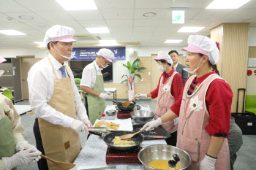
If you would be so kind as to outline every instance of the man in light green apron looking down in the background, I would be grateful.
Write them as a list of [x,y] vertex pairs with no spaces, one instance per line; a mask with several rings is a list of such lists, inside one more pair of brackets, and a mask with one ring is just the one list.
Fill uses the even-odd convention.
[[80,90],[86,92],[88,101],[89,118],[94,124],[105,109],[105,99],[111,96],[104,91],[102,69],[105,69],[115,57],[111,50],[102,48],[97,53],[95,61],[83,69],[83,76],[80,82]]

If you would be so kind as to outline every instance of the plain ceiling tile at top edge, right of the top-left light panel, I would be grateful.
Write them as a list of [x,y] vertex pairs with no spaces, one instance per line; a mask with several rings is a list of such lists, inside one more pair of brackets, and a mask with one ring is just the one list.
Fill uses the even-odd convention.
[[131,9],[135,0],[94,0],[98,9]]

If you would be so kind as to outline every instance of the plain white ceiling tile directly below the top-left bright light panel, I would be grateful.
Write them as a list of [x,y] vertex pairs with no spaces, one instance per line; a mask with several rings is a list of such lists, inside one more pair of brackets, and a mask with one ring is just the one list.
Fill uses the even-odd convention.
[[75,20],[102,20],[99,10],[69,11]]

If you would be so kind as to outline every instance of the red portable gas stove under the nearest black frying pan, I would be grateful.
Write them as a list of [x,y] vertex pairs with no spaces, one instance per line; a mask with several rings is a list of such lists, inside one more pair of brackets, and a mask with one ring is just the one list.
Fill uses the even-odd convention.
[[132,150],[115,150],[108,147],[106,163],[140,163],[138,152],[140,152],[140,146]]

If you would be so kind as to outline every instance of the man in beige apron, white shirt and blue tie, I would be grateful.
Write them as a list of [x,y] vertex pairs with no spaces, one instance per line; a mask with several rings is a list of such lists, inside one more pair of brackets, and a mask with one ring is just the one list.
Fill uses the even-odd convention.
[[[29,71],[29,102],[36,115],[37,148],[56,161],[73,163],[81,150],[78,132],[88,134],[91,123],[81,101],[74,76],[64,61],[71,59],[73,28],[53,26],[46,31],[49,54]],[[76,119],[78,115],[80,120]],[[39,169],[57,169],[50,161],[39,161]]]

